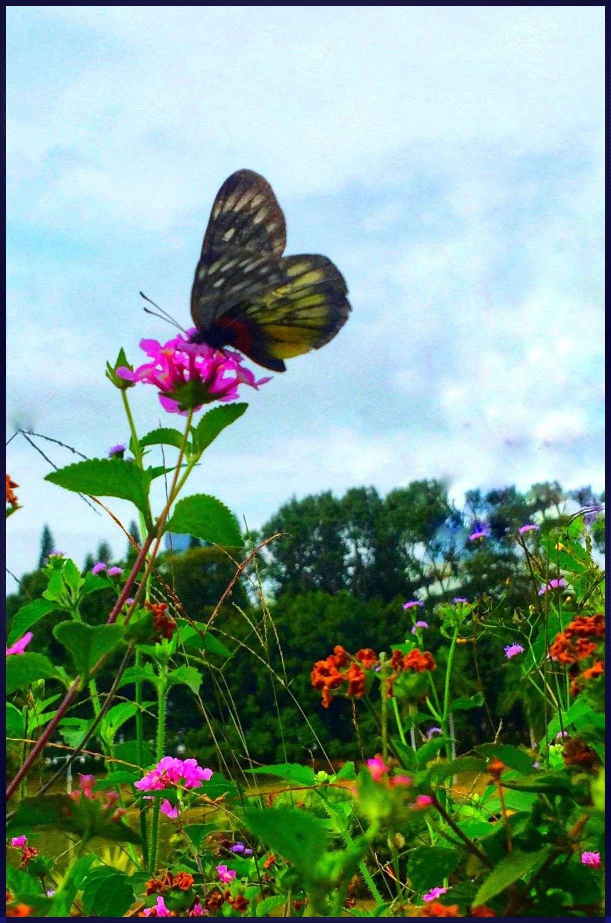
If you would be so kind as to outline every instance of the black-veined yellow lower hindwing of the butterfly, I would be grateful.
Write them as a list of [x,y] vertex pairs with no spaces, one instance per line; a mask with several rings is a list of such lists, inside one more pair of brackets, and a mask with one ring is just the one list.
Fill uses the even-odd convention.
[[279,260],[278,268],[279,283],[232,306],[209,333],[258,365],[284,372],[284,359],[333,340],[351,308],[344,277],[331,260],[304,254]]

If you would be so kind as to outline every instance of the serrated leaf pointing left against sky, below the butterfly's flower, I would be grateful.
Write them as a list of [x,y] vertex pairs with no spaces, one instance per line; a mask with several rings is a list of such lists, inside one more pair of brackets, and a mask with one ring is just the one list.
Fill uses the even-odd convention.
[[89,459],[47,474],[45,481],[91,497],[131,500],[147,515],[148,475],[123,459]]

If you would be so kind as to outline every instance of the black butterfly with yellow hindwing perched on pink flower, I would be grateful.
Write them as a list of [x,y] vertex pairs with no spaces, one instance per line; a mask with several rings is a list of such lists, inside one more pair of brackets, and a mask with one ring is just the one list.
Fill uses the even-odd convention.
[[283,257],[284,214],[272,187],[238,170],[220,187],[195,269],[192,342],[232,346],[253,362],[284,372],[285,359],[333,340],[351,307],[330,259]]

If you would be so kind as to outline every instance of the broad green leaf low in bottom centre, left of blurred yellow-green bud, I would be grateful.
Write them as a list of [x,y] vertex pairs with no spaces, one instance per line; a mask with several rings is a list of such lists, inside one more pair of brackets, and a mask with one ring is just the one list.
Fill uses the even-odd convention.
[[304,877],[311,877],[329,839],[329,831],[320,818],[296,808],[251,808],[244,811],[243,820],[254,836],[292,862]]

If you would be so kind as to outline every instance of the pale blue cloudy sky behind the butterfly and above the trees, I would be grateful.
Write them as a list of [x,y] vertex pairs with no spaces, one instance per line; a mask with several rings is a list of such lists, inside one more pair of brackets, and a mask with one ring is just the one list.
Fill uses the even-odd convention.
[[[356,485],[445,478],[459,504],[604,487],[603,7],[6,12],[6,438],[88,457],[127,440],[106,361],[123,346],[140,365],[143,337],[174,335],[139,290],[190,326],[212,202],[248,168],[274,187],[286,252],[332,259],[353,311],[245,396],[189,493],[258,528],[293,495]],[[180,425],[152,388],[130,399],[139,433]],[[13,573],[45,523],[79,564],[102,539],[122,557],[118,527],[46,483],[23,436],[6,455]]]

